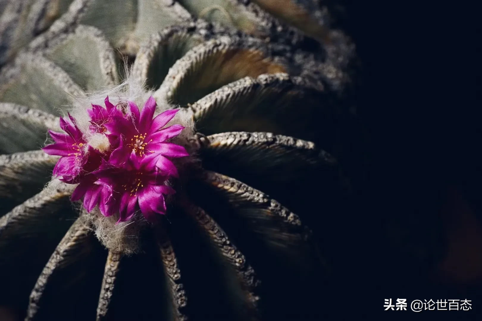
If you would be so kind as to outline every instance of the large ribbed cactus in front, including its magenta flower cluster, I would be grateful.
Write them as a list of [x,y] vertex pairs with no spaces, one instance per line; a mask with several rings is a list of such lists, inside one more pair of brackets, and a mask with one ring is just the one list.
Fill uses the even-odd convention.
[[[109,29],[115,17],[64,15],[0,72],[0,306],[26,320],[325,315],[327,293],[308,291],[326,289],[323,245],[341,237],[339,71],[202,21],[149,36],[134,18]],[[112,47],[135,54],[128,72]]]

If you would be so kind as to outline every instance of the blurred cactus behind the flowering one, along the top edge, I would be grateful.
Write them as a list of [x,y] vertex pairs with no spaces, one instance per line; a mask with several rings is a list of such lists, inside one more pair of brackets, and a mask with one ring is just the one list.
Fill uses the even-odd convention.
[[[289,45],[298,60],[336,90],[343,89],[344,72],[354,46],[317,0],[7,0],[0,12],[0,66],[18,52],[45,45],[44,37],[58,37],[77,25],[94,26],[113,48],[134,56],[151,34],[166,27],[202,18],[228,31],[267,42]],[[30,42],[37,38],[39,41]],[[50,38],[53,38],[52,35]],[[40,43],[39,43],[40,42]],[[308,52],[307,52],[308,51]],[[308,68],[307,68],[308,70]]]

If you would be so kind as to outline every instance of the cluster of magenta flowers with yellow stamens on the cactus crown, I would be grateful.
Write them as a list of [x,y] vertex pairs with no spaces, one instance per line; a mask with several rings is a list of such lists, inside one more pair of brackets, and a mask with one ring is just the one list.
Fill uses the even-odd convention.
[[[60,118],[60,127],[67,134],[49,131],[55,143],[43,150],[62,156],[53,175],[69,184],[78,183],[72,200],[83,197],[88,212],[98,205],[106,217],[119,213],[119,223],[140,210],[153,222],[156,214],[166,212],[164,195],[175,193],[166,182],[179,174],[168,157],[188,156],[183,146],[168,142],[184,127],[163,128],[177,110],[167,110],[153,119],[156,102],[152,97],[141,112],[135,103],[129,102],[130,112],[126,115],[108,97],[105,104],[106,108],[93,104],[87,110],[89,133],[82,133],[70,115],[71,124]],[[98,134],[107,137],[107,147],[89,144],[86,137]]]

